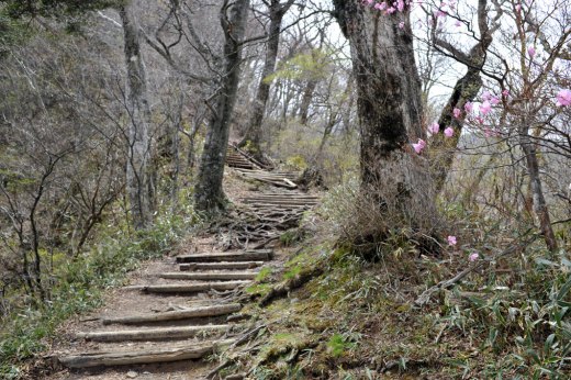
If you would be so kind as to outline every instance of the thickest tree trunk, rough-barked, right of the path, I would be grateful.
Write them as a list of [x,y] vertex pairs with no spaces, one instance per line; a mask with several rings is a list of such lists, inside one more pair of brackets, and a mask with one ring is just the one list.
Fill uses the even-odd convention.
[[[360,0],[334,0],[349,40],[361,124],[361,195],[382,225],[362,225],[367,243],[385,228],[432,231],[436,215],[427,160],[411,143],[423,138],[421,81],[414,60],[410,9],[383,15]],[[404,27],[399,23],[404,20]],[[374,209],[371,209],[374,206]],[[359,217],[360,215],[357,215]],[[370,221],[370,215],[367,215]],[[359,239],[359,238],[358,238]]]

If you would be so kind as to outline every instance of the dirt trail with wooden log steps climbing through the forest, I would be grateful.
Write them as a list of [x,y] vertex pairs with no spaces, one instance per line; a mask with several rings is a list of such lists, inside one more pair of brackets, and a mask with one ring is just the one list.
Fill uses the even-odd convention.
[[242,204],[237,221],[145,264],[128,287],[109,292],[103,308],[70,321],[52,354],[63,369],[46,379],[204,379],[216,366],[204,359],[255,328],[235,317],[242,290],[272,266],[273,253],[264,246],[296,225],[317,198],[295,189],[294,174],[267,171],[235,149],[228,157],[236,176],[268,190],[226,189]]

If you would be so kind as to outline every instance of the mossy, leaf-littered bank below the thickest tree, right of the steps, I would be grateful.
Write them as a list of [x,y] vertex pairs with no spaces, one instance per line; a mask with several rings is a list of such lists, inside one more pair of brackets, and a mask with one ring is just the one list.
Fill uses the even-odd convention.
[[[255,379],[533,378],[530,367],[515,360],[520,350],[516,332],[504,329],[501,339],[491,342],[490,322],[464,311],[472,301],[457,290],[440,292],[428,306],[413,306],[427,284],[450,277],[455,266],[403,257],[399,249],[366,262],[331,244],[303,244],[277,275],[278,282],[311,266],[324,266],[324,275],[267,308],[247,306],[266,327],[246,348],[227,354],[234,366],[226,373]],[[485,278],[481,275],[474,277]],[[481,284],[468,281],[464,288]],[[270,288],[262,282],[249,293],[265,295]],[[564,378],[555,373],[551,378]]]

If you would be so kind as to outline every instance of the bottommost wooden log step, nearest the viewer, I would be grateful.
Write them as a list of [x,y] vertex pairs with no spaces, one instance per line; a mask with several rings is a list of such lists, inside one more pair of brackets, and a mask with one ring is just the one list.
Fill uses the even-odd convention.
[[210,355],[217,347],[232,344],[234,340],[209,342],[197,346],[187,345],[182,347],[161,347],[139,350],[121,350],[109,353],[82,353],[59,358],[59,362],[68,368],[89,368],[100,366],[126,366],[153,362],[168,362],[188,359],[200,359]]

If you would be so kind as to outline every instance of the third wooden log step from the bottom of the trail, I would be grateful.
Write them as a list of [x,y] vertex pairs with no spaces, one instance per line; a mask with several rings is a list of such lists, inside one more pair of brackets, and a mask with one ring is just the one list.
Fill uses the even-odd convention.
[[132,325],[132,324],[138,324],[138,323],[149,323],[149,322],[180,321],[180,320],[190,320],[190,318],[195,318],[195,317],[227,315],[227,314],[235,313],[235,312],[239,311],[240,309],[242,309],[242,305],[239,303],[228,303],[228,304],[221,304],[221,305],[214,305],[214,306],[189,308],[189,309],[176,310],[176,311],[171,311],[171,312],[117,316],[117,317],[111,317],[111,318],[103,318],[101,322],[104,325],[110,325],[113,323]]

